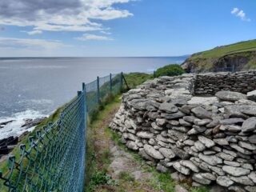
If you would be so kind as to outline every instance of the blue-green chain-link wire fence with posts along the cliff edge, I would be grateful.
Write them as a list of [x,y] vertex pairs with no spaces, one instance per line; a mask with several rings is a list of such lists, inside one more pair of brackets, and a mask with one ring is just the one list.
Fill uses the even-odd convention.
[[86,115],[108,94],[122,90],[121,74],[110,74],[88,84],[63,108],[58,120],[28,137],[19,154],[10,155],[0,171],[2,191],[84,191]]

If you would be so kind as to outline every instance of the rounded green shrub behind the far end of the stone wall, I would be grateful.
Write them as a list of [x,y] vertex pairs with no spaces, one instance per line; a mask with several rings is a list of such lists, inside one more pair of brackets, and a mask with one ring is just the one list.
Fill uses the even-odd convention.
[[184,73],[184,70],[178,64],[171,64],[168,66],[163,66],[155,71],[155,76],[158,78],[160,76],[177,76]]

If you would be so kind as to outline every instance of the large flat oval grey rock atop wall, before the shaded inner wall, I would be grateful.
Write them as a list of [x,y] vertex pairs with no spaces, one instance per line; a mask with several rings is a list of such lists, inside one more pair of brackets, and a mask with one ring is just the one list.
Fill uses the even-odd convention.
[[228,101],[228,102],[235,102],[238,101],[240,99],[246,99],[246,95],[245,94],[241,94],[238,92],[233,92],[233,91],[218,91],[215,96],[223,101]]

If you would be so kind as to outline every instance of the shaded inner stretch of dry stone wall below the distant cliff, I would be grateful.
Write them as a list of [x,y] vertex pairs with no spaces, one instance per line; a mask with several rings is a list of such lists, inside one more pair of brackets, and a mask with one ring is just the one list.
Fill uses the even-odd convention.
[[243,94],[256,90],[256,70],[197,75],[195,94],[212,95],[219,90],[237,91]]

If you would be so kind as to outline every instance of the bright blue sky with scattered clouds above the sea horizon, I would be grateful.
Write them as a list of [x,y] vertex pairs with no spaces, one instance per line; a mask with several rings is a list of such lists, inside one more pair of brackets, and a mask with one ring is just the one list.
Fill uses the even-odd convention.
[[179,56],[256,38],[254,0],[0,0],[0,57]]

